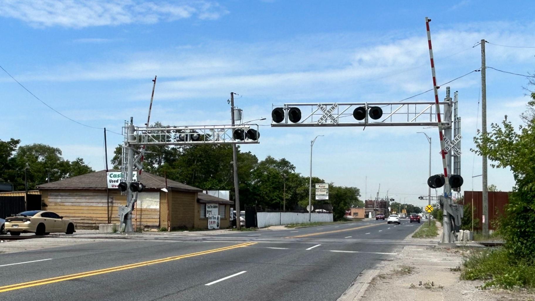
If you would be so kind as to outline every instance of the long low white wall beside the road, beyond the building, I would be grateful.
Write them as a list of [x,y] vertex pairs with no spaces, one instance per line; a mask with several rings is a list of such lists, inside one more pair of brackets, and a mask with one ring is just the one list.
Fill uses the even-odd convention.
[[[308,213],[294,212],[258,212],[256,214],[258,228],[269,227],[270,225],[289,225],[308,223]],[[332,222],[332,213],[312,213],[311,222]]]

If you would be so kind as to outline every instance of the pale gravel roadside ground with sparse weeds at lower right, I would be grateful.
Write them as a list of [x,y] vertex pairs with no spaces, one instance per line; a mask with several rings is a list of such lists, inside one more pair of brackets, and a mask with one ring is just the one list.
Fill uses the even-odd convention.
[[[439,225],[439,223],[437,223]],[[462,250],[443,249],[435,246],[416,246],[411,242],[436,242],[434,239],[407,237],[407,246],[391,261],[385,261],[361,292],[363,301],[387,300],[456,300],[456,301],[505,301],[535,300],[535,294],[501,289],[480,290],[483,281],[460,280]]]

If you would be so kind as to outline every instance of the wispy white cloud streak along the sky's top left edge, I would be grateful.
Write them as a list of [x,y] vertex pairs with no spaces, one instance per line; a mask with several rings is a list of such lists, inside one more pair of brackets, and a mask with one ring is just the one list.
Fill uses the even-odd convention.
[[154,24],[196,17],[214,20],[228,11],[216,2],[187,0],[180,4],[139,0],[2,0],[0,16],[19,19],[34,27]]

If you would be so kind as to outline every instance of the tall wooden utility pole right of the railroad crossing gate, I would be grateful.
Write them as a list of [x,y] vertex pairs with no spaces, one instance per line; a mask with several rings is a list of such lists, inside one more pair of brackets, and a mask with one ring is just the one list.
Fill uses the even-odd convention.
[[[481,131],[483,137],[487,135],[487,82],[485,62],[485,39],[481,40]],[[487,183],[487,155],[483,154],[483,235],[488,235],[488,183]]]

